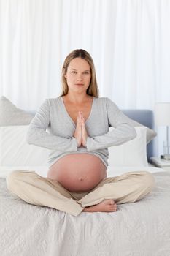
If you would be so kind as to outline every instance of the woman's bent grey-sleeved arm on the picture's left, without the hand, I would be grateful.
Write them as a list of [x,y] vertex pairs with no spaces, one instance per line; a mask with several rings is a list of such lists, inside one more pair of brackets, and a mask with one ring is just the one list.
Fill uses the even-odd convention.
[[63,138],[46,132],[49,124],[50,106],[48,99],[45,99],[28,127],[27,143],[57,151],[77,151],[76,138]]

